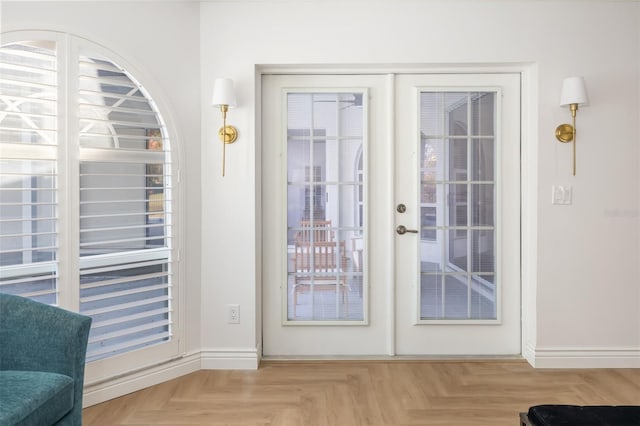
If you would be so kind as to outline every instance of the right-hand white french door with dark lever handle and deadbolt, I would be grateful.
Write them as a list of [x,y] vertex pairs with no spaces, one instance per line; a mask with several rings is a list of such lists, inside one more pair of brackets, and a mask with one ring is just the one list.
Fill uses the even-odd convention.
[[396,353],[519,354],[520,76],[395,87]]

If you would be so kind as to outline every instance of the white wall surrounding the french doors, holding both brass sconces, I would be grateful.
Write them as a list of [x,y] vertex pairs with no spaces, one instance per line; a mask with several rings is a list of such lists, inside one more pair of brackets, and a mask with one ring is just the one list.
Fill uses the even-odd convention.
[[[210,184],[203,234],[215,236],[203,239],[205,347],[252,348],[260,339],[251,309],[240,326],[222,321],[227,303],[256,303],[260,285],[256,65],[516,63],[528,64],[534,77],[524,106],[528,358],[540,366],[640,365],[639,7],[630,1],[203,3],[203,93],[215,77],[234,78],[239,108],[230,117],[241,129],[222,179],[218,144],[209,145],[220,119],[203,99],[202,176]],[[585,77],[591,97],[578,113],[576,177],[571,148],[554,137],[556,125],[570,120],[558,103],[562,79],[571,75]],[[551,205],[552,185],[571,185],[573,205]]]

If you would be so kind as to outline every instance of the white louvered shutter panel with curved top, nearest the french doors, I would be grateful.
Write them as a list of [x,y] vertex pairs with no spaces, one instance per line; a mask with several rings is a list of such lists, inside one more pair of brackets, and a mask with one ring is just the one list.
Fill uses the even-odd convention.
[[80,312],[88,358],[171,336],[171,162],[164,124],[133,77],[81,56]]

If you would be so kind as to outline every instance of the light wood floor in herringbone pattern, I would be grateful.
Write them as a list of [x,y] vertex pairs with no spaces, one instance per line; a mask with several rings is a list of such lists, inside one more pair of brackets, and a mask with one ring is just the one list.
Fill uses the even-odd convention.
[[506,361],[263,362],[203,370],[84,410],[85,426],[517,426],[537,404],[640,405],[640,369]]

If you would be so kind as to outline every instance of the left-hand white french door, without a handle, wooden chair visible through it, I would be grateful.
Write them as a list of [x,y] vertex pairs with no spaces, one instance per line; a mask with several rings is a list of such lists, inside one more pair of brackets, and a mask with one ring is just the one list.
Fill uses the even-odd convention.
[[386,80],[262,86],[263,353],[386,353],[393,234],[372,229],[392,215],[368,208],[391,202]]

